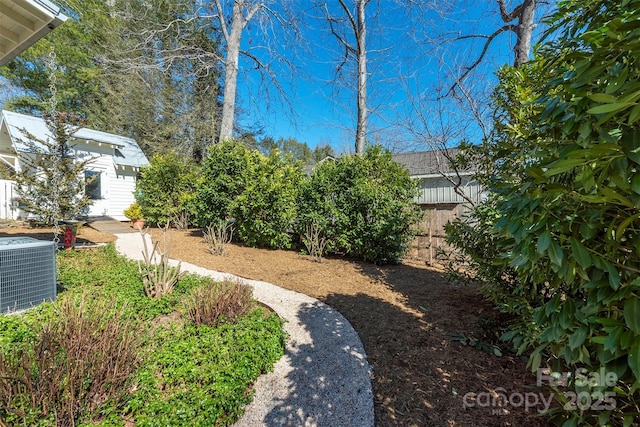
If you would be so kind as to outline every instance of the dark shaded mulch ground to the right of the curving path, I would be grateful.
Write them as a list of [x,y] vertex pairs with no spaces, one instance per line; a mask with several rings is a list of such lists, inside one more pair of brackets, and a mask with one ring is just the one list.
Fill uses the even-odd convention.
[[368,294],[323,300],[360,335],[373,367],[376,426],[548,425],[535,408],[482,406],[469,398],[502,389],[526,393],[535,385],[519,358],[452,341],[452,333],[479,332],[478,318],[493,314],[475,289],[451,284],[435,270],[360,267],[397,292],[398,302]]

